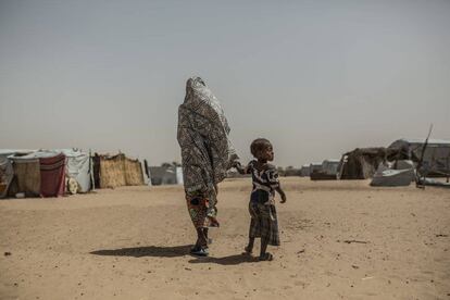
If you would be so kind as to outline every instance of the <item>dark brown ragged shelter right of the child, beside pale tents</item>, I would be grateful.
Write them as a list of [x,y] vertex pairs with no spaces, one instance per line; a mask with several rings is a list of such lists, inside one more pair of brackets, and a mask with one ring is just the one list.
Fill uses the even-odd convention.
[[357,148],[347,152],[340,160],[338,177],[340,179],[366,179],[371,178],[378,165],[384,163],[395,154],[395,150],[384,147],[378,148]]

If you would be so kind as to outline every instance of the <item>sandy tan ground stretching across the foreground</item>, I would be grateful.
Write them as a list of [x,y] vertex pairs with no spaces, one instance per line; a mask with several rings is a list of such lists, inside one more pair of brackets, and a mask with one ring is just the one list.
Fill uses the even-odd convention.
[[249,179],[203,259],[178,186],[0,201],[0,299],[450,299],[450,190],[283,184],[272,262],[240,254]]

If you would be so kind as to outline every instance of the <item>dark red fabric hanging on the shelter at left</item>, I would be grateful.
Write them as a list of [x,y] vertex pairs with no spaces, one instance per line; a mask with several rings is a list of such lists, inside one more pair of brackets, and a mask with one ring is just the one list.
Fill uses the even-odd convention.
[[63,196],[65,190],[65,155],[39,159],[40,163],[40,196]]

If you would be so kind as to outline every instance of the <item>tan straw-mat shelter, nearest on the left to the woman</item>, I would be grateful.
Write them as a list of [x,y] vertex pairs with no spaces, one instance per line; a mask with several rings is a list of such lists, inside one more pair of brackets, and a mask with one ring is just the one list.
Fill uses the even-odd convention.
[[96,187],[115,188],[143,185],[142,166],[139,160],[129,159],[124,153],[116,155],[96,153],[92,157],[92,163]]

